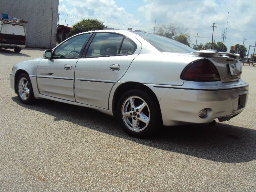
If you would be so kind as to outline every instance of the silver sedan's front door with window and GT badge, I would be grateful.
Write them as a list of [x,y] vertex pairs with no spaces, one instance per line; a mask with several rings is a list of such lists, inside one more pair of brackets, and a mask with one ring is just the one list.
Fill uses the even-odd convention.
[[37,68],[40,94],[75,101],[74,71],[92,33],[74,36],[53,50],[53,58],[42,59]]

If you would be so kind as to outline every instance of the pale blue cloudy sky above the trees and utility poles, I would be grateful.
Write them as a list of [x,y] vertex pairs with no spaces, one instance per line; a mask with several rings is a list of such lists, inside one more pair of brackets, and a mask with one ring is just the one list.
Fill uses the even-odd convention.
[[[228,9],[229,17],[228,17]],[[247,50],[256,41],[256,0],[60,0],[60,24],[72,26],[82,18],[98,19],[110,28],[156,31],[161,24],[188,28],[190,46],[212,40],[222,41],[227,25],[226,46],[243,44]],[[253,53],[254,48],[250,48]]]

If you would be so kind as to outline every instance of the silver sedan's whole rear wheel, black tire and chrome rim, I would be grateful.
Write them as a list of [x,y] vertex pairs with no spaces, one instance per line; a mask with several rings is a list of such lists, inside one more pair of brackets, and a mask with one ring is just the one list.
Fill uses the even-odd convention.
[[158,108],[152,97],[142,90],[124,93],[116,114],[123,130],[132,137],[146,138],[156,132]]

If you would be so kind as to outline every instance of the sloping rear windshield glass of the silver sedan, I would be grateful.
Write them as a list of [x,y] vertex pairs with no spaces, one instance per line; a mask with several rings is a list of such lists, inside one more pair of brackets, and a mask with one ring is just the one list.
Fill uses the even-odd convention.
[[160,52],[182,52],[182,53],[190,53],[196,50],[186,46],[180,42],[174,41],[172,39],[162,37],[159,35],[153,35],[149,33],[143,32],[133,32],[138,34],[142,38],[144,38],[147,42],[152,44],[155,48],[157,48]]

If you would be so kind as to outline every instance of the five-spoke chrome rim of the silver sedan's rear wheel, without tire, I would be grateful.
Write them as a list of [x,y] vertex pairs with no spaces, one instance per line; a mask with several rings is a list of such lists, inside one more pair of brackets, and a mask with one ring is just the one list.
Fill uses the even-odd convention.
[[122,119],[130,130],[144,130],[150,121],[148,104],[138,96],[130,96],[122,105]]

